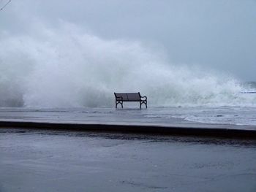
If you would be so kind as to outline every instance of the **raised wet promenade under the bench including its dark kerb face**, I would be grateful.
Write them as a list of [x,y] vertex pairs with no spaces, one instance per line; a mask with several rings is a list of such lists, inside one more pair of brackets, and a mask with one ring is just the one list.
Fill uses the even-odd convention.
[[[0,127],[51,128],[80,131],[116,131],[153,134],[179,134],[210,137],[256,138],[256,126],[227,123],[199,123],[182,118],[182,114],[198,114],[189,110],[152,108],[148,110],[85,108],[0,110]],[[211,110],[211,113],[214,110]],[[205,112],[206,113],[206,112]],[[216,113],[216,112],[215,112]],[[222,118],[227,112],[215,114]],[[230,113],[230,112],[228,112]],[[218,115],[222,114],[222,115]],[[213,116],[213,115],[211,115]],[[221,116],[221,117],[219,117]]]

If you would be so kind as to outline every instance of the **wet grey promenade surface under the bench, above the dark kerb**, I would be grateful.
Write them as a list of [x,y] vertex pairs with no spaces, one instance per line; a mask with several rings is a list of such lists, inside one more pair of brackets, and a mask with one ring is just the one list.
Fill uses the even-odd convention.
[[[248,114],[248,112],[236,113],[235,119],[238,118],[238,114]],[[253,119],[255,119],[254,113],[249,112]],[[223,112],[218,109],[207,110],[195,108],[74,108],[74,109],[33,109],[33,108],[0,108],[0,122],[34,122],[34,123],[63,123],[63,124],[102,124],[102,125],[129,125],[129,126],[163,126],[163,127],[180,127],[180,128],[219,128],[219,129],[236,129],[236,130],[252,130],[256,131],[255,125],[236,124],[231,120],[229,123],[225,121],[230,120],[225,115],[232,113],[230,111]],[[203,114],[213,116],[216,118],[224,118],[225,120],[216,120],[215,123],[211,123],[208,118],[206,122],[197,122],[195,120],[187,120],[185,116],[192,118],[194,116],[200,116]],[[214,115],[212,114],[214,113]],[[227,113],[227,114],[226,114]],[[250,119],[248,117],[241,116],[241,119]],[[192,118],[193,119],[193,118]]]

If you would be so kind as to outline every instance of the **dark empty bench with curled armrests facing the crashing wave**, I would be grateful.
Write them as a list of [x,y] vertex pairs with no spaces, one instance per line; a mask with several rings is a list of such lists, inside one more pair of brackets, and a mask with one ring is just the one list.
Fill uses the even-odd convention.
[[114,94],[116,96],[116,108],[117,108],[117,104],[121,104],[121,107],[123,108],[124,101],[139,101],[140,109],[141,109],[142,104],[145,104],[146,108],[148,108],[147,97],[140,96],[140,92],[138,92],[138,93],[114,93]]

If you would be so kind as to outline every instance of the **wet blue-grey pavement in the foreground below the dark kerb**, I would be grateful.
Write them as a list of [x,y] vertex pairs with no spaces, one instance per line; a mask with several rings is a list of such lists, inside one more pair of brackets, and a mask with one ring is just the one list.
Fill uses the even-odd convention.
[[256,191],[256,141],[0,128],[0,191]]

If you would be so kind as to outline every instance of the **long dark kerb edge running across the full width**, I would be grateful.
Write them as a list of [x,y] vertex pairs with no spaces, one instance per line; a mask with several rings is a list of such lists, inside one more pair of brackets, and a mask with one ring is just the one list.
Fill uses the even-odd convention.
[[162,126],[162,125],[128,125],[109,123],[45,123],[45,122],[24,122],[24,121],[0,121],[0,128],[40,128],[66,131],[114,131],[120,133],[136,134],[166,134],[181,136],[199,137],[224,137],[224,138],[251,138],[256,139],[256,130],[221,128],[207,124],[200,126]]

